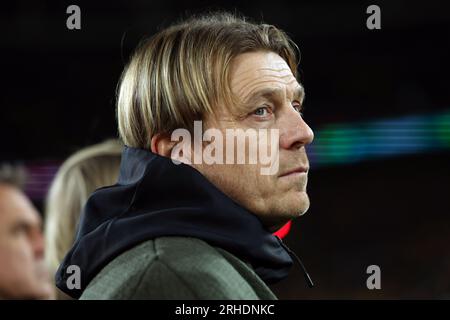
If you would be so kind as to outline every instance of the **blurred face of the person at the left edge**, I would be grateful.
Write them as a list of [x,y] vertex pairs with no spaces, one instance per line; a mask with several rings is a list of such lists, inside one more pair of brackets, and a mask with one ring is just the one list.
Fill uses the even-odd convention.
[[47,299],[41,219],[18,189],[0,184],[0,298]]

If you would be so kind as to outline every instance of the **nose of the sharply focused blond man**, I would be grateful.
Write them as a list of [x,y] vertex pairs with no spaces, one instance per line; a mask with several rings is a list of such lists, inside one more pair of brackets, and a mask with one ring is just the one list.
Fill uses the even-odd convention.
[[299,149],[314,140],[314,132],[303,117],[292,107],[288,107],[280,123],[280,148]]

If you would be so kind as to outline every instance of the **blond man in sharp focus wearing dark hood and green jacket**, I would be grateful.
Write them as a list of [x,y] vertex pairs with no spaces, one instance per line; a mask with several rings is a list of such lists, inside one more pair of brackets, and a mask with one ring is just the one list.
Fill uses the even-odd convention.
[[88,200],[58,286],[82,299],[276,299],[268,284],[293,260],[272,233],[309,207],[297,66],[283,31],[227,13],[144,41],[118,89],[118,182]]

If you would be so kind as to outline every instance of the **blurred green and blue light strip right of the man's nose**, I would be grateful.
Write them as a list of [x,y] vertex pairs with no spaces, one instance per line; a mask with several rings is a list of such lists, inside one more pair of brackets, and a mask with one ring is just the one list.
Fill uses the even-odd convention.
[[315,130],[307,147],[311,169],[450,148],[450,111],[359,123],[329,124]]

